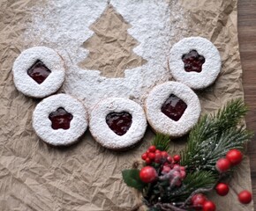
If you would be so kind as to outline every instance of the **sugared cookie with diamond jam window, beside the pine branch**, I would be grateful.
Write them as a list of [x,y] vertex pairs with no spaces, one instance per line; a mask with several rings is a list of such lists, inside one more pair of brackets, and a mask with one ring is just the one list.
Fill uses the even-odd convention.
[[154,87],[146,102],[148,123],[164,135],[180,137],[189,132],[200,117],[198,96],[185,84],[167,82]]

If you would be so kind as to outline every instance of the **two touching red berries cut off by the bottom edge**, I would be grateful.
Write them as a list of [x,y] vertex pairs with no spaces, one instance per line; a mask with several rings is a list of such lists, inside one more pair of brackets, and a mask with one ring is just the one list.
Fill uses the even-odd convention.
[[207,200],[207,197],[202,193],[193,195],[191,201],[192,207],[195,210],[215,211],[216,209],[215,203],[211,200]]

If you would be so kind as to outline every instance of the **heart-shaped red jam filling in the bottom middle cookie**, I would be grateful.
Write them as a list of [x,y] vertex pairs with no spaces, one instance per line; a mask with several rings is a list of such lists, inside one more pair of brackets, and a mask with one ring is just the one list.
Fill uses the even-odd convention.
[[124,135],[132,125],[132,115],[126,112],[109,113],[106,122],[117,135]]

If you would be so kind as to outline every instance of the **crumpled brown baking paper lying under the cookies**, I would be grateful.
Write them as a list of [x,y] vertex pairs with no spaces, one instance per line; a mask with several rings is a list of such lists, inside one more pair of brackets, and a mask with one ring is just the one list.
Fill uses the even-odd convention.
[[[34,15],[34,4],[40,4],[41,7],[46,4],[44,1],[35,2],[0,2],[0,209],[131,210],[139,204],[139,196],[124,184],[121,171],[131,168],[133,162],[138,160],[150,145],[154,135],[150,128],[147,129],[139,146],[125,152],[102,148],[94,142],[88,131],[80,142],[67,148],[51,147],[34,133],[31,124],[32,113],[40,100],[25,97],[16,90],[11,67],[15,58],[26,47],[37,44],[34,40],[25,43],[23,37],[26,25]],[[179,36],[205,37],[214,42],[221,53],[222,72],[215,84],[204,91],[197,91],[203,113],[215,112],[231,98],[243,98],[242,69],[237,41],[237,0],[182,0],[172,4],[180,4],[189,24],[189,27],[178,28]],[[124,31],[129,28],[127,23],[123,26],[119,23],[120,19],[124,20],[118,15],[104,14],[104,17],[116,18],[113,21],[117,21]],[[169,18],[174,24],[175,17]],[[91,25],[92,28],[97,26],[99,25]],[[111,25],[108,27],[107,33],[110,33],[113,29]],[[179,36],[171,41],[170,47],[179,40]],[[131,39],[129,36],[126,38]],[[92,45],[89,45],[85,40],[84,45],[93,50],[94,46],[99,44],[97,41],[92,39]],[[137,45],[136,40],[132,41],[132,45]],[[124,70],[122,58],[124,61],[130,61],[132,58],[132,67],[147,62],[139,58],[139,55],[133,54],[131,46],[125,47],[125,40],[121,44],[128,49],[130,55],[116,55],[120,60],[117,69]],[[115,50],[115,47],[113,49]],[[97,58],[94,59],[94,62],[85,59],[80,65],[95,67],[99,61],[97,62]],[[107,58],[105,59],[107,61]],[[109,65],[113,67],[115,63]],[[120,76],[118,71],[115,76]],[[108,71],[104,74],[108,75]],[[184,148],[185,142],[170,144],[170,153],[174,154]],[[237,193],[244,189],[252,190],[247,157],[239,165],[230,182],[229,195],[218,197],[212,193],[209,198],[216,202],[217,210],[253,210],[252,203],[244,206],[237,202]]]

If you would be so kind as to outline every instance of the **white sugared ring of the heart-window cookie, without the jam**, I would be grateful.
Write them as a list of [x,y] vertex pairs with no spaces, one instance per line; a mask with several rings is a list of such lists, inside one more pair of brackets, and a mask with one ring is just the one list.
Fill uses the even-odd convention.
[[[114,133],[106,123],[109,113],[127,112],[132,115],[132,126],[124,135]],[[141,106],[130,99],[107,98],[94,107],[90,115],[90,132],[97,142],[109,149],[126,149],[139,142],[145,134],[147,120]]]

